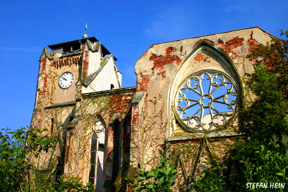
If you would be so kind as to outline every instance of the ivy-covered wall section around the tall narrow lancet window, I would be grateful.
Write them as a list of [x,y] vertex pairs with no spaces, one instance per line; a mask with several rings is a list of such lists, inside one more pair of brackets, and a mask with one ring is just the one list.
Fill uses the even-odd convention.
[[[125,157],[130,151],[127,151],[126,145],[130,143],[131,125],[127,124],[126,120],[130,119],[130,100],[134,93],[135,88],[124,88],[82,95],[81,106],[78,108],[81,114],[80,120],[75,126],[68,128],[67,132],[65,173],[81,177],[82,181],[88,182],[91,135],[94,131],[93,124],[98,118],[103,119],[106,125],[103,184],[105,180],[111,180],[113,174],[117,176],[121,165],[127,167],[128,162]],[[111,118],[114,114],[119,114],[119,116],[112,122]],[[114,125],[114,121],[118,123]],[[122,140],[124,140],[123,146]],[[120,146],[115,146],[115,143]],[[115,166],[113,161],[119,163],[120,166]]]

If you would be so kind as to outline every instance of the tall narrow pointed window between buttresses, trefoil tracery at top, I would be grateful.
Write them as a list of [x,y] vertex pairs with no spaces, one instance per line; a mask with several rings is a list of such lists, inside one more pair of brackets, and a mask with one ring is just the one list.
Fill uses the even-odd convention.
[[105,123],[98,118],[93,125],[90,149],[90,172],[88,182],[96,184],[95,191],[102,191],[105,152]]

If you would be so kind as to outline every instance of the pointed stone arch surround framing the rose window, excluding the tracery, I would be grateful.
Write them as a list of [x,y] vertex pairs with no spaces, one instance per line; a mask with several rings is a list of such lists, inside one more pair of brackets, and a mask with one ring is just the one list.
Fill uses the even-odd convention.
[[[169,118],[168,137],[169,138],[173,135],[174,131],[177,128],[179,128],[179,126],[181,130],[183,130],[184,132],[185,131],[192,132],[192,133],[198,132],[193,129],[190,129],[190,127],[187,126],[187,123],[183,122],[183,120],[179,118],[179,114],[177,114],[178,113],[177,106],[176,106],[177,104],[175,102],[179,96],[180,86],[183,86],[183,84],[185,84],[184,83],[185,80],[189,81],[189,78],[192,77],[193,75],[195,76],[198,73],[200,74],[200,72],[205,73],[208,71],[209,72],[212,71],[214,74],[216,72],[219,74],[223,74],[223,76],[233,81],[233,83],[235,84],[236,92],[240,92],[240,89],[242,88],[242,84],[240,80],[241,78],[240,78],[239,71],[236,68],[233,60],[226,53],[226,51],[222,50],[220,47],[208,41],[205,41],[205,40],[198,41],[192,47],[192,49],[186,54],[186,56],[183,58],[183,60],[177,67],[177,70],[173,76],[173,81],[170,85],[169,111],[168,111],[169,113],[168,114],[168,118]],[[211,98],[208,97],[208,99],[211,99]],[[237,98],[238,105],[240,104],[240,100],[241,98],[239,94]],[[213,116],[212,112],[211,112],[211,116]],[[210,128],[208,130],[210,131]]]

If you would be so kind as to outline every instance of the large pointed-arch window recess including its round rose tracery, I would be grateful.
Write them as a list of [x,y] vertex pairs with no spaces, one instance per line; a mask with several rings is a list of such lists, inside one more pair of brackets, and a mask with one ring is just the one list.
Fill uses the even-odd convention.
[[185,132],[202,136],[230,122],[241,100],[240,82],[234,61],[223,50],[207,41],[195,45],[170,86],[169,138]]

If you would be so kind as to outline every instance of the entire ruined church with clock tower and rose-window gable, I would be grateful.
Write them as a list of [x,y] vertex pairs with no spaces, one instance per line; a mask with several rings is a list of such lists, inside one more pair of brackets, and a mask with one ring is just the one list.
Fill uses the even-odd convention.
[[136,61],[129,88],[121,87],[116,56],[95,37],[48,45],[31,127],[59,140],[31,157],[34,181],[45,171],[54,181],[65,174],[96,184],[95,191],[126,191],[123,178],[138,162],[145,170],[159,164],[164,140],[175,151],[174,191],[189,186],[203,162],[235,174],[226,149],[240,137],[242,78],[253,70],[244,57],[273,38],[251,27],[153,44]]

